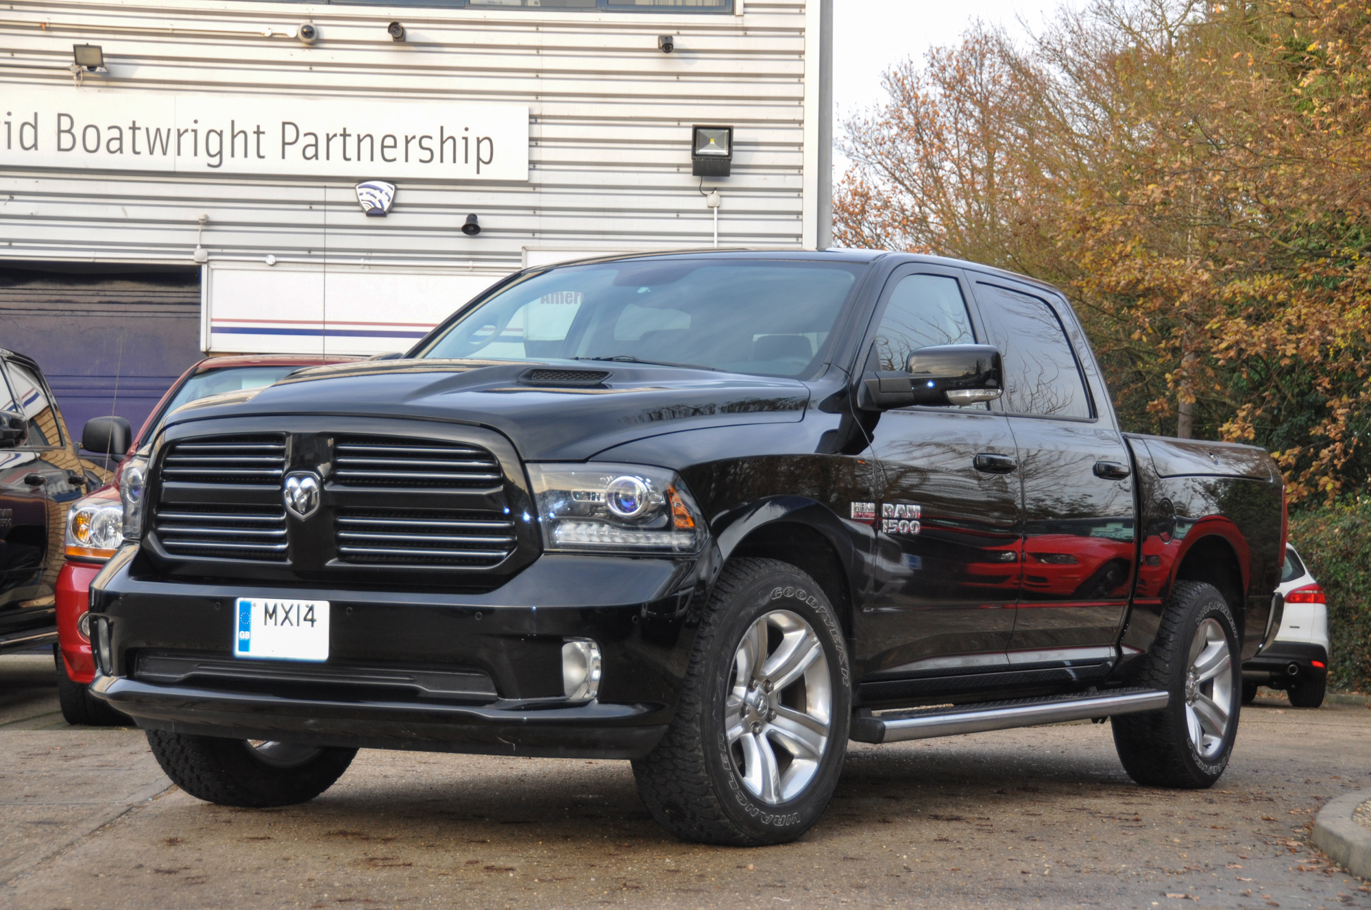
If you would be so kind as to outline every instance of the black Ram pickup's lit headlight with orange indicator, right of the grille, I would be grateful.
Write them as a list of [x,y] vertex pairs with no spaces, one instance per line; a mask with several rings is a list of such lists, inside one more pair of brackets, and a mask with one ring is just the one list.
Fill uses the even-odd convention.
[[676,471],[642,465],[529,465],[543,547],[695,554],[705,519]]

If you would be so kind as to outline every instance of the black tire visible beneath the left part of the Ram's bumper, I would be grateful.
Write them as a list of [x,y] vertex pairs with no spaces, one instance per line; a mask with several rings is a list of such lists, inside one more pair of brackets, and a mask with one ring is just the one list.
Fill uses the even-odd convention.
[[148,746],[171,781],[196,799],[219,806],[267,809],[314,799],[333,785],[355,748],[319,748],[291,767],[263,762],[247,740],[148,730]]

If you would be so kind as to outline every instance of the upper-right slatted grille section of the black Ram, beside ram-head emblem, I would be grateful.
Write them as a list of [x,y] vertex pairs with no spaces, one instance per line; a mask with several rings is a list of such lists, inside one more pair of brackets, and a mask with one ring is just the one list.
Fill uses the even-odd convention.
[[329,482],[340,487],[476,489],[505,477],[495,455],[462,443],[344,437],[333,454]]

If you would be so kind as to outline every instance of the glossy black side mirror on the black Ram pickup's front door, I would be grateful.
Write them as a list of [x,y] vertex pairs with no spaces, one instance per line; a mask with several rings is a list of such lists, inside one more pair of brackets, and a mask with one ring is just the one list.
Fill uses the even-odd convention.
[[862,406],[872,410],[994,402],[1004,391],[999,351],[988,344],[939,344],[909,355],[902,371],[868,373]]

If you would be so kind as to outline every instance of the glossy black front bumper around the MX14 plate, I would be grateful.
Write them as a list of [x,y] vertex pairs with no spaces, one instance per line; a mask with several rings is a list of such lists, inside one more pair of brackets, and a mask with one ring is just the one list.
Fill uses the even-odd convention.
[[[119,563],[117,558],[114,561]],[[638,758],[672,720],[710,559],[543,555],[488,593],[282,589],[143,580],[132,561],[90,592],[100,676],[90,691],[147,729],[321,746],[506,755]],[[171,655],[233,665],[234,598],[330,603],[329,661],[358,667],[470,672],[485,696],[395,696],[318,680],[300,685],[147,667]],[[599,643],[599,698],[565,698],[566,639]],[[289,665],[289,662],[276,662]],[[319,666],[319,665],[314,665]],[[302,676],[303,680],[303,676]]]

